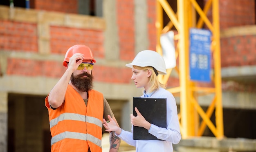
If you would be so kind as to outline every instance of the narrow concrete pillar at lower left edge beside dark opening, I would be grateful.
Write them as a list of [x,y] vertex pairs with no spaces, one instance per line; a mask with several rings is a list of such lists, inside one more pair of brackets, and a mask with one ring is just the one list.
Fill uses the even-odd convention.
[[0,152],[7,152],[8,93],[0,92]]

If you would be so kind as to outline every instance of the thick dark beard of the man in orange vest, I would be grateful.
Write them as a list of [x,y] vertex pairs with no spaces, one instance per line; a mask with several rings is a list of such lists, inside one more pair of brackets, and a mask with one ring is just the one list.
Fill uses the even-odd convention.
[[[85,75],[87,77],[83,77]],[[87,72],[82,73],[80,75],[76,75],[76,76],[74,76],[72,73],[70,81],[77,88],[77,90],[82,92],[88,92],[93,88],[92,79],[93,79],[93,76]]]

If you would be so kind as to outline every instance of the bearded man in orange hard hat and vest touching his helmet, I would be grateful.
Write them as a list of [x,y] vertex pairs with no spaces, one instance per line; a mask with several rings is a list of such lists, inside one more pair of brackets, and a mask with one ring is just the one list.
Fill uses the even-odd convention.
[[[85,45],[67,50],[65,73],[45,98],[52,134],[52,152],[102,152],[103,119],[117,123],[103,94],[92,89],[96,60]],[[117,152],[119,137],[110,132],[110,152]]]

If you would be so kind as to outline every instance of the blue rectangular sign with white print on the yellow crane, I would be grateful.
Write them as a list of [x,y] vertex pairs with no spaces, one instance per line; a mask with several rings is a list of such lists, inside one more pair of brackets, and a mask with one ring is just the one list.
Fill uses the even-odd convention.
[[189,33],[190,79],[211,82],[211,31],[191,28]]

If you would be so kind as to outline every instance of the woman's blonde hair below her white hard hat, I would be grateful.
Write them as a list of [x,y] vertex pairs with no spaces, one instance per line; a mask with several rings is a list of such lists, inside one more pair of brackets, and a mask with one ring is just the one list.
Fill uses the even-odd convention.
[[136,68],[138,70],[151,70],[152,74],[149,79],[150,87],[148,88],[147,93],[151,93],[159,88],[166,88],[166,84],[161,84],[157,79],[157,75],[155,74],[153,67],[151,66],[141,67],[141,66],[133,65],[133,68]]

